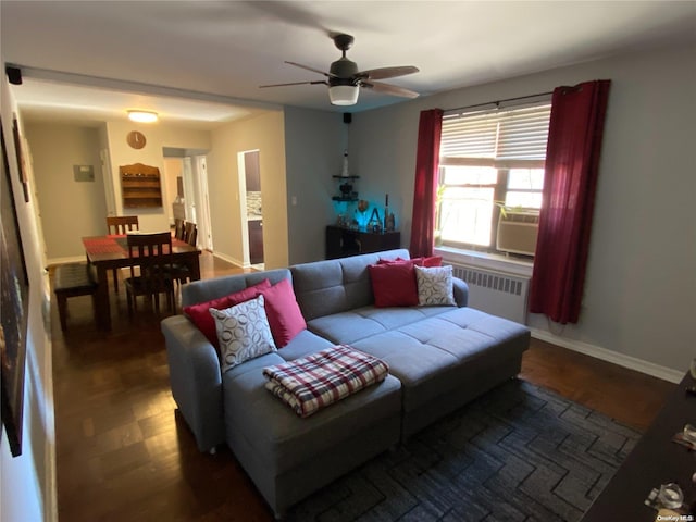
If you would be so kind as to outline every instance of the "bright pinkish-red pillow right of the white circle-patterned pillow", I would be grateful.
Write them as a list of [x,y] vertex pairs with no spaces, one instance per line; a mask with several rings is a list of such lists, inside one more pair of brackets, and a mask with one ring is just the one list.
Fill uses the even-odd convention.
[[289,279],[283,279],[261,293],[265,299],[265,314],[277,348],[283,348],[297,334],[307,328],[307,323],[295,298]]

